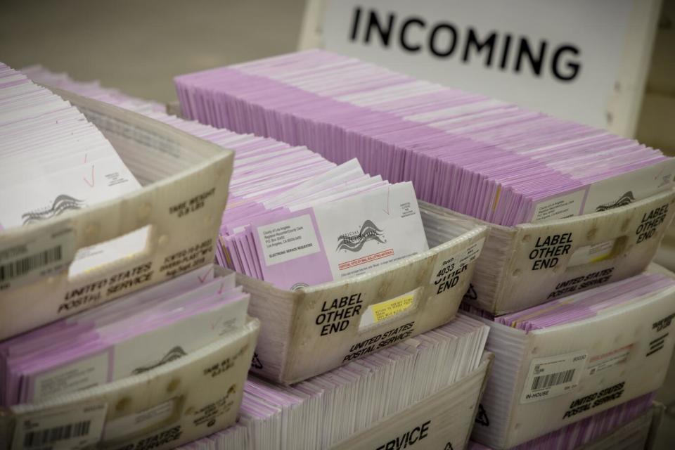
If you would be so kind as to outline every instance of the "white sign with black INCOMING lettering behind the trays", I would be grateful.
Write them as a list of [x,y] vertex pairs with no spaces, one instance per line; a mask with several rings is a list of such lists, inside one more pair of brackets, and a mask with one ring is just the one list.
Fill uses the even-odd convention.
[[633,7],[631,0],[324,0],[321,45],[607,128]]

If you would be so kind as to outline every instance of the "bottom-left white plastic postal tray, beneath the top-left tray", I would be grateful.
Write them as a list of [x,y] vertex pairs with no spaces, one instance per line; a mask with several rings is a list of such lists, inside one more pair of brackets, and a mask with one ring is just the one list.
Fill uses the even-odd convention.
[[[34,448],[162,450],[223,430],[236,421],[259,328],[249,319],[212,344],[139,375],[0,409],[0,450],[41,439],[48,442]],[[71,439],[52,431],[69,425]],[[60,439],[49,442],[50,436]]]

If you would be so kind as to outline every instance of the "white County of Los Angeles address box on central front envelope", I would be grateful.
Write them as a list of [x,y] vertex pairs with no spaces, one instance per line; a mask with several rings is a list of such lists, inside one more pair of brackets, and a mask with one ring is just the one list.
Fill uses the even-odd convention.
[[257,231],[267,266],[321,251],[309,214],[259,226]]

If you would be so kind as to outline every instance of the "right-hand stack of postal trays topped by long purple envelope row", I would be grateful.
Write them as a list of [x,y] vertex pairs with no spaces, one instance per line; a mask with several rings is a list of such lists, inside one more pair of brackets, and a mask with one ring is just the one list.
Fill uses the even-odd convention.
[[643,273],[674,214],[660,151],[326,51],[175,82],[188,118],[411,181],[430,246],[489,229],[463,299],[495,354],[475,441],[546,448],[662,385],[673,281]]

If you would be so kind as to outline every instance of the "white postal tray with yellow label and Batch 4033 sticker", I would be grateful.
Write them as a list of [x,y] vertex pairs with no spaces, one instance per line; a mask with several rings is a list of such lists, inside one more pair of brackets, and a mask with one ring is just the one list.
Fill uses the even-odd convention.
[[[446,243],[345,281],[290,291],[237,274],[251,295],[249,314],[262,322],[252,371],[297,383],[454,319],[487,236],[485,226],[465,226]],[[409,308],[359,326],[370,305],[401,296],[413,297]]]

